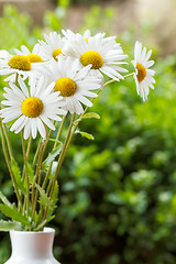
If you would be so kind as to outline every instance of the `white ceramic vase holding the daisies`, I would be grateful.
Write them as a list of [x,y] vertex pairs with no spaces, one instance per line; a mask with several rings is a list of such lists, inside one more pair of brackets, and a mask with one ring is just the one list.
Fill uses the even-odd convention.
[[55,230],[41,232],[10,231],[12,254],[4,264],[61,264],[53,256]]

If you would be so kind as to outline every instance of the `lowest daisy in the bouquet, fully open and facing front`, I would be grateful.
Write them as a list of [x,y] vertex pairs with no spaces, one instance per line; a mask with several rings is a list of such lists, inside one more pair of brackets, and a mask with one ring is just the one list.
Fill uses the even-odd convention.
[[45,85],[44,77],[41,77],[37,84],[32,81],[30,92],[24,81],[19,78],[19,89],[13,82],[9,82],[10,88],[4,88],[3,95],[7,100],[2,105],[7,106],[0,111],[2,122],[8,123],[12,120],[15,122],[11,127],[11,131],[19,133],[24,128],[24,139],[35,139],[37,130],[42,138],[46,136],[47,125],[51,130],[55,130],[52,120],[61,121],[58,114],[65,114],[59,107],[63,106],[59,92],[53,92],[54,84],[48,87]]

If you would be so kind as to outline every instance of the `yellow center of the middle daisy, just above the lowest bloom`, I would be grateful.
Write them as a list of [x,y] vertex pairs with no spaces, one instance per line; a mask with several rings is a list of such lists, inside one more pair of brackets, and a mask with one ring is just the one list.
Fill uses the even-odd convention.
[[61,91],[59,95],[63,97],[70,97],[76,92],[76,84],[73,79],[63,77],[57,79],[54,90]]

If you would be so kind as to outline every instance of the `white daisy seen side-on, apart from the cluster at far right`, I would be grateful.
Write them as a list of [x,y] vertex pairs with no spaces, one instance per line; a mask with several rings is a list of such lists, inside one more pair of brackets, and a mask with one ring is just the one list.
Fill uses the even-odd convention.
[[153,84],[155,84],[155,79],[153,78],[155,72],[150,69],[154,65],[154,61],[148,61],[151,54],[152,50],[146,53],[146,47],[142,50],[142,43],[135,42],[134,61],[132,61],[132,64],[135,68],[134,80],[136,91],[143,101],[147,100],[150,88],[154,89]]

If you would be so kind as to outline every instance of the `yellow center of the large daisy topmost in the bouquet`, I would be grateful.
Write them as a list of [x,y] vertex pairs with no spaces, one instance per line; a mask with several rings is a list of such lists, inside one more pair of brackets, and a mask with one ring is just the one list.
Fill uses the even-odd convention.
[[84,66],[92,64],[92,66],[91,66],[92,69],[99,69],[99,68],[101,68],[101,66],[103,64],[103,59],[102,59],[101,55],[98,52],[88,51],[88,52],[85,52],[80,56],[80,63]]

